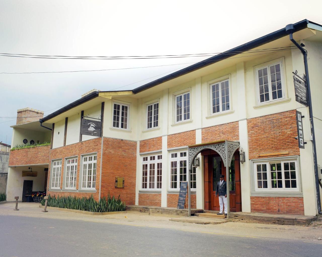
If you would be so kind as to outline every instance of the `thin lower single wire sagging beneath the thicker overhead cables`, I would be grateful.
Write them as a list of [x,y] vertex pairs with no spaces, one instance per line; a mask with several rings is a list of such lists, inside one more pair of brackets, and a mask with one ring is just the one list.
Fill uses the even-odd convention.
[[[289,49],[285,50],[276,50],[274,52],[282,52],[282,51],[288,51]],[[274,53],[270,52],[270,53]],[[231,58],[223,58],[218,61],[224,60],[224,59],[233,59],[233,58],[242,58],[242,57],[250,57],[255,55],[261,55],[261,54],[267,54],[260,53],[260,54],[253,54],[253,55],[247,55],[247,56],[238,56],[238,57],[231,57]],[[203,60],[199,62],[212,62],[212,60]],[[102,70],[81,70],[81,71],[40,71],[40,72],[0,72],[0,74],[32,74],[32,73],[64,73],[64,72],[87,72],[87,71],[116,71],[116,70],[130,70],[130,69],[141,69],[141,68],[154,68],[154,67],[164,67],[164,66],[174,66],[174,65],[182,65],[182,64],[194,64],[198,62],[186,62],[186,63],[175,63],[175,64],[164,64],[164,65],[156,65],[156,66],[143,66],[143,67],[130,67],[130,68],[119,68],[119,69],[102,69]]]

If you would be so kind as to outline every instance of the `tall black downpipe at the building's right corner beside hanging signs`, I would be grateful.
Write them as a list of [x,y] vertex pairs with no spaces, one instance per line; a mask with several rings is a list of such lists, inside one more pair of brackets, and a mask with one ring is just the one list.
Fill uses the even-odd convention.
[[[302,52],[304,58],[304,68],[305,68],[305,78],[307,83],[307,95],[308,95],[308,112],[310,116],[310,125],[311,125],[311,134],[312,134],[312,146],[313,146],[313,164],[314,164],[314,174],[315,174],[315,187],[317,190],[317,209],[318,213],[322,214],[321,211],[321,198],[320,198],[320,188],[319,188],[319,177],[318,177],[318,170],[317,170],[317,149],[316,149],[316,142],[315,142],[315,133],[314,133],[314,123],[313,123],[313,111],[312,111],[312,101],[311,101],[311,88],[310,88],[310,80],[308,77],[308,52],[302,47],[302,44],[299,45],[293,39],[293,32],[295,31],[294,25],[289,24],[285,27],[286,33],[289,34],[289,40],[295,44],[298,49]],[[304,46],[304,45],[303,45]]]

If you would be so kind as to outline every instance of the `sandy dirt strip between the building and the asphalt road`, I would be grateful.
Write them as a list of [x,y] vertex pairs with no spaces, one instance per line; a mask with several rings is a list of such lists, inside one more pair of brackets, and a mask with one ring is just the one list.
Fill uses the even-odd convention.
[[[258,224],[243,222],[227,222],[223,224],[193,224],[169,221],[170,217],[148,215],[139,212],[122,212],[109,215],[89,215],[61,210],[47,209],[42,212],[39,203],[18,203],[19,211],[14,211],[15,203],[0,204],[1,215],[42,217],[50,219],[81,220],[84,222],[102,222],[130,226],[156,227],[190,231],[196,233],[225,234],[238,237],[270,238],[301,240],[311,243],[321,243],[322,221],[306,226]],[[0,217],[1,218],[1,217]]]

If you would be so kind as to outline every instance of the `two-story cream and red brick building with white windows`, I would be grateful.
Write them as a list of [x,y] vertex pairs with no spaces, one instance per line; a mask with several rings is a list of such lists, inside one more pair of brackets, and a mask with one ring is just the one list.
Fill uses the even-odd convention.
[[[294,29],[308,52],[322,165],[322,26],[304,20]],[[133,90],[94,90],[40,123],[17,121],[12,146],[51,144],[11,151],[7,199],[22,196],[22,171],[32,166],[47,194],[176,207],[197,156],[192,208],[219,210],[215,186],[229,174],[231,211],[316,215],[309,110],[296,99],[295,71],[305,73],[303,55],[283,28]]]

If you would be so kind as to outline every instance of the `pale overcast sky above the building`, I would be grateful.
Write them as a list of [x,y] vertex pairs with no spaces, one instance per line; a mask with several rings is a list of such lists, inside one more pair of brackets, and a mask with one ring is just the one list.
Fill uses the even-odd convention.
[[[0,0],[0,52],[32,55],[146,56],[216,53],[309,19],[322,1]],[[0,141],[11,143],[16,110],[52,113],[95,88],[133,89],[208,57],[60,60],[0,56]],[[177,65],[170,65],[177,64]],[[167,66],[161,66],[167,65]],[[7,139],[6,139],[7,138]]]

